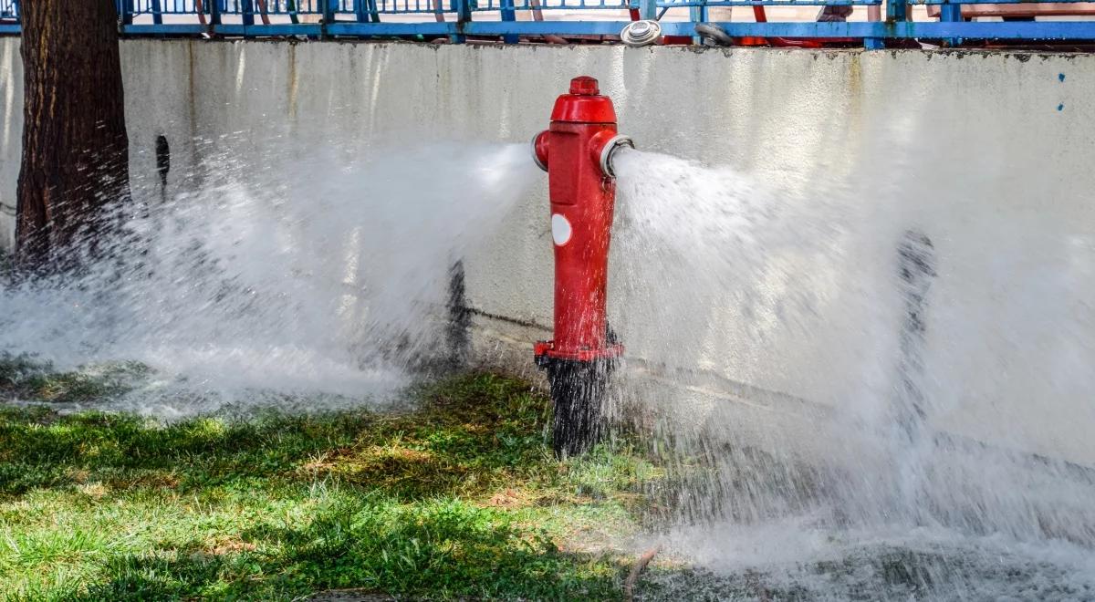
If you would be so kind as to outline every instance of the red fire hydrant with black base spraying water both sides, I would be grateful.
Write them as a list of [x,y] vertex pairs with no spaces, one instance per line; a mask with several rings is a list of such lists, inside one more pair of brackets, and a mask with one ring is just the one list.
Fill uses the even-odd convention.
[[578,77],[555,101],[551,126],[532,139],[548,172],[555,247],[552,340],[535,344],[555,406],[553,447],[565,458],[589,451],[604,430],[609,378],[623,354],[606,316],[609,242],[615,202],[612,160],[631,138],[616,134],[615,109],[597,80]]

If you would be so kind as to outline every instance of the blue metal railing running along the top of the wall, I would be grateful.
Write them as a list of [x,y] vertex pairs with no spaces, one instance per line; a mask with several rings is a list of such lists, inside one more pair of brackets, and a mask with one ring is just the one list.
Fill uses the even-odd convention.
[[[1095,20],[969,22],[964,7],[993,10],[1022,4],[1038,14],[1048,0],[116,0],[124,35],[227,35],[309,37],[616,36],[633,19],[659,19],[661,31],[678,39],[698,39],[695,25],[708,9],[750,7],[867,7],[876,21],[727,21],[718,23],[735,40],[775,45],[840,43],[885,47],[887,40],[926,39],[957,45],[964,40],[1074,40],[1095,43]],[[1083,7],[1084,0],[1052,0]],[[937,16],[908,20],[911,7],[931,5]],[[923,9],[921,9],[923,10]],[[671,11],[671,12],[670,12]],[[1083,12],[1083,11],[1081,11]],[[518,13],[529,15],[518,20]],[[551,19],[545,14],[552,15]],[[556,20],[557,16],[562,20]],[[545,20],[546,19],[546,20]],[[763,21],[758,19],[758,21]],[[19,33],[19,0],[0,0],[0,33]],[[759,40],[759,42],[758,42]],[[791,42],[787,42],[791,40]]]

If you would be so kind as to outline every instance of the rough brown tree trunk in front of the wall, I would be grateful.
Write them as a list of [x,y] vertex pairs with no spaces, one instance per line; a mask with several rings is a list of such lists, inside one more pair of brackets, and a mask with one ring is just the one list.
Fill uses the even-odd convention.
[[15,252],[31,269],[96,253],[105,207],[129,196],[114,0],[23,0],[23,162]]

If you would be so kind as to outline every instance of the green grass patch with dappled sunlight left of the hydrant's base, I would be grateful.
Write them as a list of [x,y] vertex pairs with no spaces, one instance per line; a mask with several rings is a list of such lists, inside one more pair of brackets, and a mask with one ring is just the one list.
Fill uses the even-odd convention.
[[[116,392],[20,361],[0,361],[0,396]],[[619,599],[631,558],[610,544],[655,466],[626,443],[555,461],[550,403],[518,380],[411,396],[166,426],[0,406],[0,600]]]

